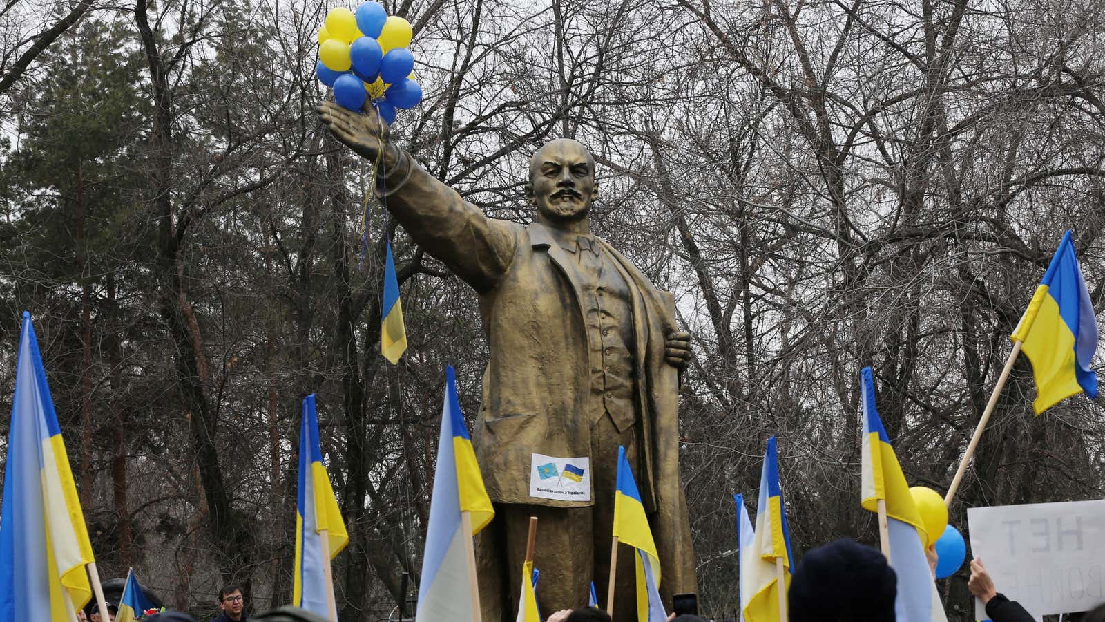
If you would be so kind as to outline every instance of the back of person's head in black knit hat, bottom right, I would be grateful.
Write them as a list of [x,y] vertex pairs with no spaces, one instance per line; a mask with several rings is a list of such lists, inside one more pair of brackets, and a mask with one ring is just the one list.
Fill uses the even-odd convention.
[[790,622],[894,622],[897,576],[883,553],[836,540],[802,557],[790,579]]

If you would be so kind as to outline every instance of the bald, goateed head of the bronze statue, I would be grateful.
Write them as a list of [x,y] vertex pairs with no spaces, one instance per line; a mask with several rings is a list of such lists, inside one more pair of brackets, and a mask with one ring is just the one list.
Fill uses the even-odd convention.
[[571,221],[587,218],[598,196],[594,158],[579,141],[550,141],[537,149],[529,160],[526,198],[545,219]]

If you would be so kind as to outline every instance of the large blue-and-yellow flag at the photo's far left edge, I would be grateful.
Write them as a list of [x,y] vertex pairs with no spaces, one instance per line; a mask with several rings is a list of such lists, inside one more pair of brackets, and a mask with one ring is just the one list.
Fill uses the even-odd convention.
[[92,598],[84,566],[93,561],[31,314],[24,311],[0,508],[0,620],[74,620]]

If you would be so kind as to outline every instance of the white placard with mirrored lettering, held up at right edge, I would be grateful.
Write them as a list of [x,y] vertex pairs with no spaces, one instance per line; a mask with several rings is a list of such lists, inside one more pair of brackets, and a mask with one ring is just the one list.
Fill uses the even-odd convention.
[[[1105,500],[969,508],[970,548],[994,588],[1039,618],[1105,600]],[[985,620],[975,599],[976,620]]]

